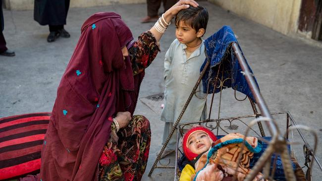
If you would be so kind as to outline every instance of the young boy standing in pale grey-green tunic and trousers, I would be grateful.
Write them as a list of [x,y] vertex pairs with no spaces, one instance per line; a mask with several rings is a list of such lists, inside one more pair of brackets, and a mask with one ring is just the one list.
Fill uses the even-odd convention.
[[[205,45],[201,37],[205,34],[208,23],[206,8],[190,6],[181,10],[175,18],[175,36],[165,54],[164,82],[165,104],[161,113],[161,121],[164,121],[163,140],[172,130],[173,123],[179,117],[188,97],[193,90],[199,76],[200,67],[205,61]],[[206,96],[202,85],[196,90],[180,123],[199,121],[206,119]],[[176,134],[171,137],[161,158],[173,152],[176,143]]]

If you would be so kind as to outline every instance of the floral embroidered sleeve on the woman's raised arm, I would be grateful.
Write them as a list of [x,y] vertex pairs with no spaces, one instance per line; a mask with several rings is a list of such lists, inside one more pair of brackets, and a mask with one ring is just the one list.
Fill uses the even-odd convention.
[[150,31],[143,32],[139,39],[129,48],[133,75],[147,68],[160,51],[157,40]]

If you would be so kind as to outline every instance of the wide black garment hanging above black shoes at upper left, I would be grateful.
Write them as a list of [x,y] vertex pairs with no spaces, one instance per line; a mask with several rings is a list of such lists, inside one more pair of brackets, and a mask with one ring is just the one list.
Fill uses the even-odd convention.
[[70,0],[35,0],[34,19],[41,25],[65,25]]

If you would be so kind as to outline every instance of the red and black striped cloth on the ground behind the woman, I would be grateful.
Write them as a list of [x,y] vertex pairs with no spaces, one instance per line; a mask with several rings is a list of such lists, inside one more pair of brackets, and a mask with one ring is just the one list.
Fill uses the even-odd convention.
[[50,116],[45,112],[0,119],[0,180],[39,173]]

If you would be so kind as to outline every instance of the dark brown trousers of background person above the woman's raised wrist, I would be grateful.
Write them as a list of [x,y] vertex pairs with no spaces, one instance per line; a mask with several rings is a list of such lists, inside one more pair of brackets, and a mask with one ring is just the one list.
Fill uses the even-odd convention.
[[148,16],[152,17],[158,15],[158,10],[161,6],[161,1],[163,3],[164,12],[177,2],[177,0],[147,0]]

